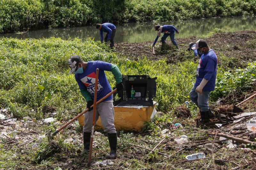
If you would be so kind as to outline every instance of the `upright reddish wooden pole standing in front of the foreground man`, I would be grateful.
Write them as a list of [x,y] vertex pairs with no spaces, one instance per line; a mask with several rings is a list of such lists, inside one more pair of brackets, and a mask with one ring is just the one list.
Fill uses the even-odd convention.
[[96,113],[96,102],[97,102],[97,91],[98,91],[98,78],[99,78],[99,69],[96,69],[94,99],[93,99],[93,111],[92,111],[92,131],[91,131],[91,141],[90,141],[88,166],[91,166],[91,163],[92,163],[92,142],[93,142],[93,132],[94,132],[94,125],[95,125],[95,113]]

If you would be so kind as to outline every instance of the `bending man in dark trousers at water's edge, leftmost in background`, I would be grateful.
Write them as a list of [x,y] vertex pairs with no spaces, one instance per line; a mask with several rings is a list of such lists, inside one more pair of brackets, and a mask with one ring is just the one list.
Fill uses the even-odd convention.
[[96,28],[100,30],[100,42],[103,42],[103,31],[106,32],[104,42],[110,40],[110,48],[114,48],[114,37],[116,34],[116,26],[111,23],[96,24]]

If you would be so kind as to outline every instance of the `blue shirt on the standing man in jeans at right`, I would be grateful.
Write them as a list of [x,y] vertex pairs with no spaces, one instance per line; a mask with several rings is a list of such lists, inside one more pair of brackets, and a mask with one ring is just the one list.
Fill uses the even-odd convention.
[[218,59],[215,52],[210,49],[208,53],[203,54],[199,59],[198,66],[196,68],[196,83],[195,87],[200,85],[203,78],[208,80],[203,88],[203,91],[213,91],[215,87],[215,80],[217,75],[217,63]]

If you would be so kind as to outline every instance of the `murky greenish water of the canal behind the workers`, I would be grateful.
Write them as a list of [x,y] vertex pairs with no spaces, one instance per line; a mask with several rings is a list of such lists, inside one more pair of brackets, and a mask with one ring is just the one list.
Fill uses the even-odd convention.
[[[211,33],[215,28],[227,31],[256,31],[256,17],[232,17],[232,18],[207,18],[207,19],[190,19],[183,21],[157,23],[159,25],[173,25],[180,34],[176,38],[186,38],[189,36],[200,36]],[[154,41],[156,31],[154,23],[128,23],[116,26],[115,42],[144,42]],[[88,38],[94,37],[94,40],[100,40],[99,30],[95,26],[83,26],[76,28],[57,28],[28,31],[27,33],[9,33],[0,34],[4,37],[12,38],[49,38],[62,37],[62,39]],[[105,34],[104,34],[105,36]]]

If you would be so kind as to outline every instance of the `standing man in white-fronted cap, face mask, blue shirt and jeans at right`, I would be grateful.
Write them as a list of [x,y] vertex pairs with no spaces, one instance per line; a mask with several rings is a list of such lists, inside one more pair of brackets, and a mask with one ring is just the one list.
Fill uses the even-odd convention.
[[200,109],[202,123],[209,122],[214,117],[208,105],[211,91],[215,88],[218,59],[215,52],[210,49],[205,40],[196,41],[195,47],[198,53],[203,53],[196,68],[196,83],[192,87],[189,98]]

